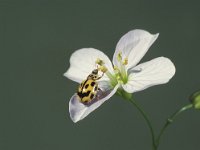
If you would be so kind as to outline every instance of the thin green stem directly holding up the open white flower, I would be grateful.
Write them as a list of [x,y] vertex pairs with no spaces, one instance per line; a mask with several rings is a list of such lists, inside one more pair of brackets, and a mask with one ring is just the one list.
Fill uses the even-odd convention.
[[153,130],[151,121],[150,121],[147,113],[141,108],[141,106],[139,104],[137,104],[137,102],[133,98],[129,99],[129,101],[131,102],[131,104],[133,104],[139,110],[141,115],[144,117],[144,119],[145,119],[145,121],[146,121],[146,123],[147,123],[147,125],[149,127],[150,133],[151,133],[153,150],[157,150],[157,146],[156,146],[156,142],[155,142],[154,130]]

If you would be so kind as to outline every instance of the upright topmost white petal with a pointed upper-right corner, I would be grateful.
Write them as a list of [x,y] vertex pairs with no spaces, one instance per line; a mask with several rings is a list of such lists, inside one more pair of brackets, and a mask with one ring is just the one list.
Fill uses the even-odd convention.
[[150,34],[145,30],[132,30],[121,37],[117,43],[116,50],[113,56],[114,65],[118,65],[117,54],[121,51],[123,59],[128,58],[126,68],[134,67],[146,54],[149,47],[154,43],[158,37],[157,34]]

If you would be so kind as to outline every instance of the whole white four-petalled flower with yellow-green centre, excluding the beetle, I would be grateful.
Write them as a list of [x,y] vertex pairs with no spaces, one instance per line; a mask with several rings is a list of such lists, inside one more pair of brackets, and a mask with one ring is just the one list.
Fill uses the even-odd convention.
[[101,51],[83,48],[75,51],[70,58],[70,68],[64,74],[67,78],[81,83],[95,69],[95,62],[101,60],[107,72],[98,80],[103,91],[100,98],[91,105],[81,103],[75,93],[69,101],[69,112],[73,122],[85,118],[117,91],[134,93],[150,86],[167,83],[175,74],[175,66],[170,59],[158,57],[138,64],[159,34],[144,30],[132,30],[117,43],[113,64]]

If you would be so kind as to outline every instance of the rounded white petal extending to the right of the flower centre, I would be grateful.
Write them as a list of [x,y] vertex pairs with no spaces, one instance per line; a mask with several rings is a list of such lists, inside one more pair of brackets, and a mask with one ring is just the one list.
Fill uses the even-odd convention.
[[158,57],[129,70],[128,83],[122,85],[128,93],[144,90],[150,86],[167,83],[175,74],[170,59]]

